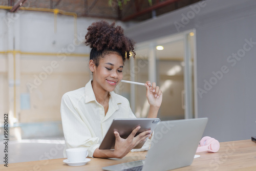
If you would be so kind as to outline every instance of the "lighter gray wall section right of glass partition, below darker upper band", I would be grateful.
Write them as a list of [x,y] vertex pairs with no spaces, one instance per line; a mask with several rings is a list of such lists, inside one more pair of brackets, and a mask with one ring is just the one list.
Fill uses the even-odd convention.
[[[197,29],[197,82],[206,90],[198,98],[198,116],[209,118],[205,134],[221,141],[256,135],[256,13],[245,10],[240,18],[207,22]],[[207,87],[205,80],[214,84]]]

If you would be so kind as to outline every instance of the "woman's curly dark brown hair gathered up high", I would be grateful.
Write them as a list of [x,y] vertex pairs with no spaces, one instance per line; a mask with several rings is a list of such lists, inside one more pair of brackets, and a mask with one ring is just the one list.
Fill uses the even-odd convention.
[[130,52],[133,52],[135,58],[135,41],[124,36],[123,29],[120,26],[115,27],[115,22],[110,25],[101,20],[92,23],[87,30],[85,44],[92,48],[90,59],[95,62],[96,66],[99,65],[101,58],[110,53],[122,56],[123,62],[130,58]]

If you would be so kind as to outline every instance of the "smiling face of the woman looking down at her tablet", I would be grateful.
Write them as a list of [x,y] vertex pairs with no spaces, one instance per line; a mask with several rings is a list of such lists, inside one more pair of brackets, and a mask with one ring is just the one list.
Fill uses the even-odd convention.
[[123,59],[115,53],[108,54],[99,60],[98,67],[94,67],[93,85],[97,89],[112,92],[123,78]]

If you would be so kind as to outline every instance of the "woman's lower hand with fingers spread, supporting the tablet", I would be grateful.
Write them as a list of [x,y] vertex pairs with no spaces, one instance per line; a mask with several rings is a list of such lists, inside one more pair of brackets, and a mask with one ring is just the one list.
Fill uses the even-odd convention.
[[140,129],[140,126],[137,126],[136,129],[134,129],[126,139],[121,138],[117,131],[114,132],[116,141],[115,141],[115,149],[113,154],[115,158],[120,158],[120,159],[123,158],[136,145],[144,141],[147,137],[151,137],[151,130],[144,131],[135,137],[139,129]]

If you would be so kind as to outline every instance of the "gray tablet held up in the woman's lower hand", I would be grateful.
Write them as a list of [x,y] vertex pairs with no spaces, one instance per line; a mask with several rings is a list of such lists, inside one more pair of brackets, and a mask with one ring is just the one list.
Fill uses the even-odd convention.
[[[153,132],[159,121],[159,118],[114,119],[109,131],[106,133],[103,141],[101,142],[99,149],[115,148],[116,137],[114,135],[114,131],[117,131],[120,137],[125,139],[137,126],[140,126],[140,130],[135,136],[147,130],[151,130]],[[145,141],[139,143],[134,148],[141,148]]]

